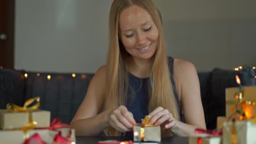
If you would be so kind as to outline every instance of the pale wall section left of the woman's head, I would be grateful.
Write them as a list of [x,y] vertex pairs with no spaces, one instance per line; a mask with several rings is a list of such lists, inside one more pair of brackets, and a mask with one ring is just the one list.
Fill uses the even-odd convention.
[[105,64],[112,0],[16,0],[15,67],[96,72]]

